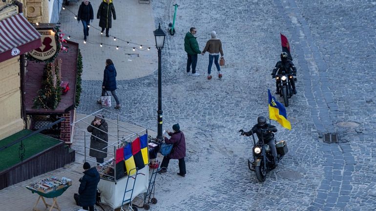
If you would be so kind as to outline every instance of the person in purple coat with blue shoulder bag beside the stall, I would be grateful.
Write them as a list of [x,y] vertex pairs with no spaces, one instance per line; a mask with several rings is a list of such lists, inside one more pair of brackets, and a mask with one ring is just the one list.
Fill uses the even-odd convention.
[[179,124],[175,124],[172,126],[173,133],[167,132],[169,136],[171,136],[170,139],[168,139],[165,136],[165,142],[167,144],[173,144],[171,153],[167,156],[163,157],[162,164],[161,164],[161,170],[159,170],[159,173],[166,173],[167,167],[170,159],[179,159],[179,173],[180,176],[186,175],[186,161],[184,160],[184,157],[186,156],[186,138],[183,134],[183,132],[180,131]]

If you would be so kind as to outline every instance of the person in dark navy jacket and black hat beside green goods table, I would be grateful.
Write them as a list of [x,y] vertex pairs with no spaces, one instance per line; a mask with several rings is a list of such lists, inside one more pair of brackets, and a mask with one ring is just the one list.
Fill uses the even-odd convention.
[[97,185],[99,182],[99,173],[96,168],[90,168],[88,162],[84,163],[84,176],[80,179],[80,206],[84,210],[94,211],[96,201]]

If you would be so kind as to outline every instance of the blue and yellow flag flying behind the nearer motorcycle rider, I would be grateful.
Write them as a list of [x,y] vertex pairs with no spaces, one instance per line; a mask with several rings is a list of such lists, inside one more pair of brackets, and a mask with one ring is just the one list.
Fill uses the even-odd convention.
[[272,96],[270,90],[268,89],[269,95],[269,118],[277,121],[282,127],[291,130],[291,124],[287,120],[286,109],[283,105],[278,102],[275,97]]

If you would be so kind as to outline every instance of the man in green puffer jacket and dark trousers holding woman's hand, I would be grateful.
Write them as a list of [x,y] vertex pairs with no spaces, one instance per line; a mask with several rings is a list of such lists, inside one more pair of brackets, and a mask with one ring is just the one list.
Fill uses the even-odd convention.
[[189,75],[190,66],[192,65],[192,76],[199,76],[200,74],[196,73],[196,64],[197,64],[197,54],[201,54],[200,49],[198,48],[198,43],[196,37],[196,28],[192,27],[189,29],[189,32],[184,38],[184,50],[187,52],[187,75]]

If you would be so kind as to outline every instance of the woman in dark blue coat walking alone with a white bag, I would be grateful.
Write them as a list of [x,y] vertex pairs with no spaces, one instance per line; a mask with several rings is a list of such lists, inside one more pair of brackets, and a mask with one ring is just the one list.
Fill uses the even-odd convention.
[[[106,59],[106,67],[104,68],[103,83],[102,83],[102,96],[106,94],[107,91],[111,92],[111,95],[115,98],[116,106],[115,109],[121,108],[119,97],[116,95],[116,69],[115,65],[111,59]],[[101,99],[97,100],[98,104],[102,104]]]

